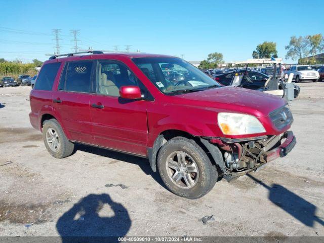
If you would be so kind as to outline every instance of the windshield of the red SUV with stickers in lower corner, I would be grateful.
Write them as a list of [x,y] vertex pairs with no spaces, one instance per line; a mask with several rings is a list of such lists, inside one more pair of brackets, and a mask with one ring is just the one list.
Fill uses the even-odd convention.
[[221,87],[214,79],[180,58],[134,58],[135,64],[165,94]]

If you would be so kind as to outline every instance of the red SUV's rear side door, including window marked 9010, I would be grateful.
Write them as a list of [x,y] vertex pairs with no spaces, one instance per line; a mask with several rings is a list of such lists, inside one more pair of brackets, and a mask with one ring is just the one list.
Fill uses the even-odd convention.
[[93,60],[66,62],[58,90],[53,92],[54,108],[70,139],[89,144],[94,144],[89,106],[93,63]]

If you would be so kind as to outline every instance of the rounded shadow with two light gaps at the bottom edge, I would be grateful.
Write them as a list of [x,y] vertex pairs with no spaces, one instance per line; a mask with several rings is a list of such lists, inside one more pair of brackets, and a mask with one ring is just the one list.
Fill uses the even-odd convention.
[[118,242],[131,227],[127,209],[108,194],[89,194],[57,221],[62,242]]

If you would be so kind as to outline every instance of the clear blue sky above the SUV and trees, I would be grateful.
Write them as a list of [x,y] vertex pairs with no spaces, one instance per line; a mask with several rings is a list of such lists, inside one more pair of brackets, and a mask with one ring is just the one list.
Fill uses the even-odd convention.
[[[322,1],[191,0],[0,0],[0,58],[23,62],[53,54],[53,29],[61,29],[60,52],[80,50],[167,54],[201,61],[220,52],[226,62],[252,58],[264,41],[285,46],[293,35],[324,34]],[[292,60],[286,60],[292,62]]]

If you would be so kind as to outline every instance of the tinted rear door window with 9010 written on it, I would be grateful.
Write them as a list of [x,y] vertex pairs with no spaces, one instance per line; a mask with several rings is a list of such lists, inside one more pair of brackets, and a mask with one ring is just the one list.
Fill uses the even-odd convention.
[[74,61],[65,64],[59,90],[90,92],[93,61]]

